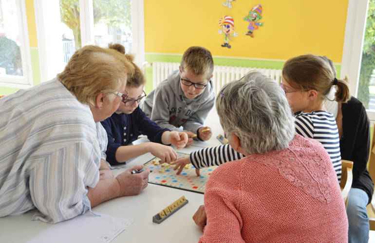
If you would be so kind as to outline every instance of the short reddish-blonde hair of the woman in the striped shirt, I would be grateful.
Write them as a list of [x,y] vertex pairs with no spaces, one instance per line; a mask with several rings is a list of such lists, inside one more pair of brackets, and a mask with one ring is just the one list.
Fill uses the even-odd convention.
[[73,54],[57,79],[83,104],[94,105],[99,93],[112,94],[134,72],[121,53],[98,46],[84,46]]

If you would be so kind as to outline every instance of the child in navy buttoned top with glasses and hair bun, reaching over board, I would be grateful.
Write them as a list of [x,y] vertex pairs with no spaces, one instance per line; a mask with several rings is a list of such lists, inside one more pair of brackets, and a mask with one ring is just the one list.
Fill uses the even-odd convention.
[[[125,50],[120,49],[121,47],[119,44],[110,45],[110,48],[124,54]],[[161,162],[174,161],[177,158],[176,151],[163,144],[172,143],[177,148],[183,148],[187,143],[187,135],[161,128],[138,107],[146,97],[143,91],[145,77],[132,62],[133,56],[127,54],[126,57],[134,67],[134,74],[128,78],[125,88],[127,96],[122,96],[122,103],[110,118],[101,121],[108,136],[107,161],[111,165],[117,165],[148,152],[159,157]],[[151,142],[129,145],[141,134],[147,135]]]

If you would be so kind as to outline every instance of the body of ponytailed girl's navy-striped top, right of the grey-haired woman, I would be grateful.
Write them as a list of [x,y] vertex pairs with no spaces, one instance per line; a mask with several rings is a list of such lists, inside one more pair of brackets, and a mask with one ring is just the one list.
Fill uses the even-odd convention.
[[296,116],[296,131],[305,138],[318,140],[331,158],[338,182],[341,180],[340,138],[335,117],[326,111],[301,113]]

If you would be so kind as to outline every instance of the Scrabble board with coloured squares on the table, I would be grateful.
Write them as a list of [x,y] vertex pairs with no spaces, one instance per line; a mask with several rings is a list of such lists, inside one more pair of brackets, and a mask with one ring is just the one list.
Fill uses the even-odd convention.
[[[183,153],[177,154],[179,157],[188,156]],[[154,157],[144,164],[143,169],[150,168],[152,171],[149,175],[149,183],[202,194],[205,193],[206,182],[209,175],[217,168],[217,166],[202,168],[200,171],[201,176],[197,176],[197,174],[195,174],[194,166],[188,164],[185,166],[181,174],[176,174],[177,170],[173,170],[175,165],[169,165],[167,163],[159,164],[159,160],[159,158]]]

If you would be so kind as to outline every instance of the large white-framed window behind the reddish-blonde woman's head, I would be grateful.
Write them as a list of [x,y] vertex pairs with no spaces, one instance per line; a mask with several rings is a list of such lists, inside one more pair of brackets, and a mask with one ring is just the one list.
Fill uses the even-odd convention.
[[42,82],[61,72],[75,50],[86,44],[120,43],[127,53],[136,53],[137,64],[143,63],[143,0],[38,0],[34,4],[40,67],[45,67]]

